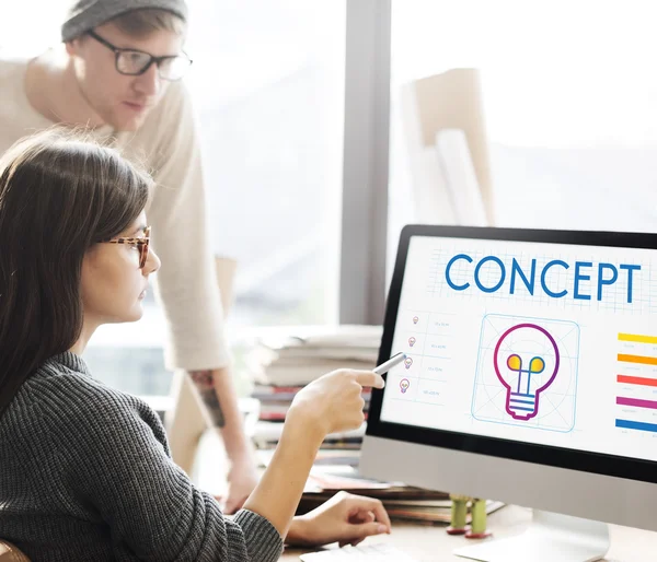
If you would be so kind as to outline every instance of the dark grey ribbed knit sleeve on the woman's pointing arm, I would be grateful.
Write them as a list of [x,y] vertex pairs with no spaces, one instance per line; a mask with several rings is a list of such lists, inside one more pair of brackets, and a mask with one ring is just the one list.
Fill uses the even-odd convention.
[[173,463],[150,408],[111,389],[78,398],[64,428],[70,487],[110,526],[113,543],[160,562],[279,559],[283,540],[267,519],[245,510],[226,518]]

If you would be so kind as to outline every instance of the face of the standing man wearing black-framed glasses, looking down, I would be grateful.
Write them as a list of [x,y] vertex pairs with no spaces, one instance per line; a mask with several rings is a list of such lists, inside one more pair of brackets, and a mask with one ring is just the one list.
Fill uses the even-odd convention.
[[[157,31],[146,37],[132,37],[112,23],[96,27],[95,33],[122,49],[135,49],[153,57],[180,55],[183,37],[174,32]],[[116,70],[112,49],[84,35],[67,44],[82,95],[93,110],[117,130],[135,131],[166,91],[168,81],[160,79],[158,66],[151,65],[141,75],[125,75]]]

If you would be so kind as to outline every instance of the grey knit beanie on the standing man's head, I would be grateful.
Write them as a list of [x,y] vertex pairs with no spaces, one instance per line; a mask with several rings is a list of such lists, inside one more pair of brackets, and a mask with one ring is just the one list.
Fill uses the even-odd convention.
[[165,10],[187,21],[184,0],[77,0],[61,26],[61,40],[69,42],[118,15],[147,8]]

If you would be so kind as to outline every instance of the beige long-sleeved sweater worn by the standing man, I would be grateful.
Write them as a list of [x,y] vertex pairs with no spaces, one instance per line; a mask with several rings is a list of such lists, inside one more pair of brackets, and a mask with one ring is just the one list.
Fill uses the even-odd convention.
[[[0,60],[0,153],[20,138],[51,127],[24,89],[27,60]],[[152,246],[162,260],[157,295],[168,319],[168,368],[219,368],[229,362],[221,301],[210,251],[200,148],[189,95],[183,83],[164,98],[137,132],[94,131],[151,172],[157,189],[147,208]]]

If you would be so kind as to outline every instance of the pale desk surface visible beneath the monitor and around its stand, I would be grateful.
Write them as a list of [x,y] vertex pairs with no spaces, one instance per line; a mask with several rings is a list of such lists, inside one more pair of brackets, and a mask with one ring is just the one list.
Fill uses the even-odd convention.
[[[515,505],[506,506],[488,516],[488,527],[497,538],[519,535],[531,519],[531,511]],[[611,549],[607,562],[654,562],[657,560],[657,532],[627,527],[610,526]],[[419,562],[460,561],[468,559],[452,554],[452,550],[471,543],[463,537],[450,537],[445,526],[424,526],[393,523],[392,534],[368,538],[364,545],[389,541]],[[297,561],[308,550],[286,549],[280,559]],[[555,561],[558,562],[558,561]]]

